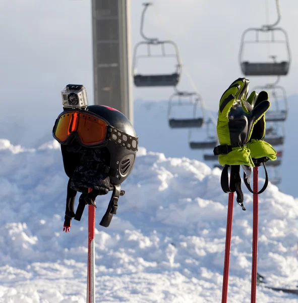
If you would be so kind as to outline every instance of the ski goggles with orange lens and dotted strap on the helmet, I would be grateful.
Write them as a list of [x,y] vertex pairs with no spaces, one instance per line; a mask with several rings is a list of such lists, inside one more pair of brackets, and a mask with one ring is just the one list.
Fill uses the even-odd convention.
[[87,111],[63,112],[56,119],[53,137],[60,144],[67,145],[74,136],[80,144],[87,147],[103,145],[110,140],[128,149],[138,150],[138,137],[130,136]]

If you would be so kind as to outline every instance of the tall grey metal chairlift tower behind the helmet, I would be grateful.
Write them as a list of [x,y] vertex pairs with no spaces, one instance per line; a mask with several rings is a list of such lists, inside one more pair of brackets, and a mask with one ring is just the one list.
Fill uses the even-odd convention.
[[130,0],[92,0],[94,104],[133,123]]

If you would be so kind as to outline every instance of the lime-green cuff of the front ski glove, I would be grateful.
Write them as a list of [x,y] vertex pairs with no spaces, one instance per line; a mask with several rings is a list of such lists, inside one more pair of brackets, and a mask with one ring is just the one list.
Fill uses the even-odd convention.
[[218,156],[220,165],[247,165],[255,167],[250,150],[246,146],[232,147],[232,151]]

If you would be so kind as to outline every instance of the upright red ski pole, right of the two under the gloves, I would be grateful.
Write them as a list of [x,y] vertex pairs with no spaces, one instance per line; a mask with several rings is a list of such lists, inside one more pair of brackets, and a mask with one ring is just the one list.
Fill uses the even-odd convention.
[[[254,192],[258,192],[259,181],[258,167],[254,167]],[[259,196],[254,193],[253,198],[253,261],[252,261],[252,291],[251,303],[256,303],[257,299],[257,269],[258,269],[258,223],[259,223]]]

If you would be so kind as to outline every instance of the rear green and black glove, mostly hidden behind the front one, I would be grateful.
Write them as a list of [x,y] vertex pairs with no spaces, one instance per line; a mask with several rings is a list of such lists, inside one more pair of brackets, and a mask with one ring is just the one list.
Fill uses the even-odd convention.
[[[252,108],[247,109],[249,111],[258,106],[264,100],[269,99],[267,91],[261,91],[259,94],[256,92],[254,93],[255,97],[248,98],[247,100],[247,102],[252,106]],[[246,111],[245,108],[244,110]],[[250,149],[251,157],[255,163],[267,162],[268,160],[276,160],[276,150],[272,147],[272,145],[264,141],[265,127],[266,121],[264,114],[264,116],[255,124],[251,139],[247,143],[247,148]]]

